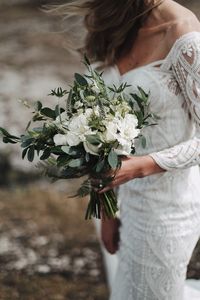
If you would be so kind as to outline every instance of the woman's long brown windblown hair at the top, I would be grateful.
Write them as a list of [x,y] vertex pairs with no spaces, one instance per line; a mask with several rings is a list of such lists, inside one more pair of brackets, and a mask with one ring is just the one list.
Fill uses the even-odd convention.
[[[52,11],[61,13],[68,20],[81,17],[86,34],[79,50],[91,61],[110,65],[131,50],[140,27],[162,1],[74,0]],[[81,29],[80,26],[76,30],[80,33]]]

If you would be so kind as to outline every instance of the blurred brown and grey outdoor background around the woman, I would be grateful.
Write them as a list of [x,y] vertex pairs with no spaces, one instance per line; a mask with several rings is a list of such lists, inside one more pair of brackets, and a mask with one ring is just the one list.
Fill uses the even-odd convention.
[[[55,100],[81,71],[61,19],[42,5],[66,1],[0,0],[0,126],[21,133],[31,117],[18,100]],[[178,1],[200,17],[198,0]],[[76,182],[50,184],[20,149],[0,143],[0,300],[106,300],[108,288],[87,199],[71,199]],[[199,246],[188,278],[200,279]]]

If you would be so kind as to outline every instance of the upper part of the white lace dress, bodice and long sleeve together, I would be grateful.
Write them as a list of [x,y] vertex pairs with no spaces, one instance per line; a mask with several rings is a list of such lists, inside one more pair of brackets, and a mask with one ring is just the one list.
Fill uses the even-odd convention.
[[[164,60],[122,76],[114,66],[105,72],[105,78],[109,79],[107,74],[111,82],[130,83],[128,92],[133,92],[137,85],[147,92],[150,90],[150,107],[161,121],[157,130],[147,129],[143,134],[149,139],[148,154],[163,169],[170,171],[200,164],[200,32],[181,36]],[[137,149],[138,154],[146,153],[139,145]]]

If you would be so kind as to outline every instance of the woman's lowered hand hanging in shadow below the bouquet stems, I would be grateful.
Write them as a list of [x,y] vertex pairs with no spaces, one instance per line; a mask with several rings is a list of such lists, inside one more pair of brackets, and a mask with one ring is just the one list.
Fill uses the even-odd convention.
[[116,253],[119,248],[119,227],[120,220],[118,218],[101,220],[101,239],[110,254]]

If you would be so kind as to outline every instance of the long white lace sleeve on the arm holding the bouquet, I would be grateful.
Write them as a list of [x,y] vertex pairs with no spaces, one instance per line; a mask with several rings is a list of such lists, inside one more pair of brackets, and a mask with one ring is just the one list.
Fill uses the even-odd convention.
[[196,123],[196,136],[150,154],[161,168],[168,171],[200,164],[200,33],[181,39],[171,54],[172,72]]

